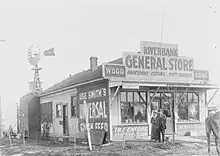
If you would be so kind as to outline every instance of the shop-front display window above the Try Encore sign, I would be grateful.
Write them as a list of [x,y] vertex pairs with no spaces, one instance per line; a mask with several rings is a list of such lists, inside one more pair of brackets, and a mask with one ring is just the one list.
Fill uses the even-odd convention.
[[121,92],[121,122],[147,122],[145,92]]

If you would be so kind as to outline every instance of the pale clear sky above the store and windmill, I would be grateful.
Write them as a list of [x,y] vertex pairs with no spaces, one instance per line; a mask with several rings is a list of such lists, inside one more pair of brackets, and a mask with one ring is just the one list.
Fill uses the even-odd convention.
[[[42,87],[98,63],[140,51],[140,41],[178,44],[179,55],[193,57],[196,69],[220,74],[219,0],[1,0],[0,95],[4,124],[16,124],[16,103],[33,80],[27,50],[55,47],[55,57],[41,56]],[[218,97],[220,94],[218,94]],[[215,100],[218,101],[218,100]]]

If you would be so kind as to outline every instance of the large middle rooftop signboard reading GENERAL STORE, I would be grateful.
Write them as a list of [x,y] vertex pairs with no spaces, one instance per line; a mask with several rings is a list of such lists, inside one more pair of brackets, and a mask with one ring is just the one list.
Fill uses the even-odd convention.
[[190,57],[125,52],[123,63],[129,80],[190,83],[194,79],[194,60]]

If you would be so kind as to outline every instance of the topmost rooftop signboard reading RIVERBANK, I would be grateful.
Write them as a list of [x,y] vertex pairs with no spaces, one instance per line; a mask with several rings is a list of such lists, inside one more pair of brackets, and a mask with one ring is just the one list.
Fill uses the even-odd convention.
[[178,56],[177,44],[141,41],[141,54],[150,56]]

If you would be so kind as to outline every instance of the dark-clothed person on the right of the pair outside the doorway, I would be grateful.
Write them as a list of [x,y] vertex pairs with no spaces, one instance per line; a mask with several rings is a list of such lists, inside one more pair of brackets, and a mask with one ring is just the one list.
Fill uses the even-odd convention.
[[159,110],[159,113],[156,118],[156,133],[157,133],[156,141],[161,142],[160,135],[162,134],[162,142],[164,142],[165,129],[166,129],[166,116],[164,115],[163,110]]

